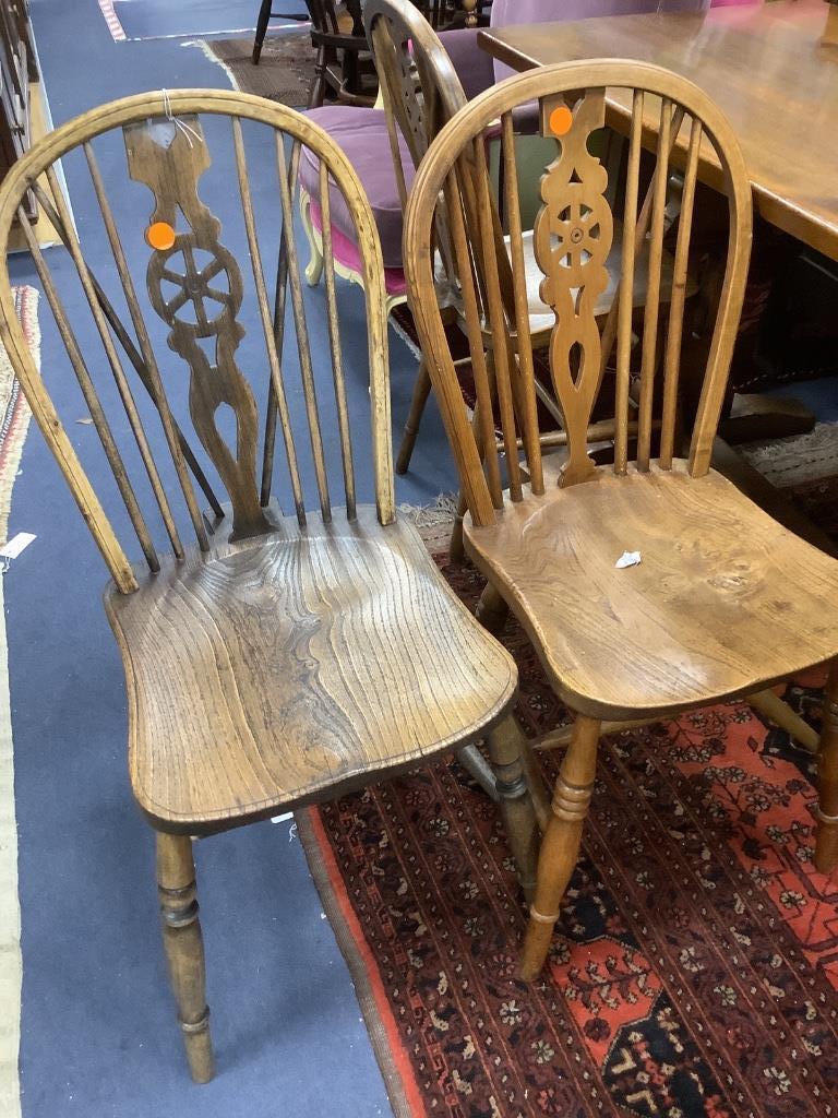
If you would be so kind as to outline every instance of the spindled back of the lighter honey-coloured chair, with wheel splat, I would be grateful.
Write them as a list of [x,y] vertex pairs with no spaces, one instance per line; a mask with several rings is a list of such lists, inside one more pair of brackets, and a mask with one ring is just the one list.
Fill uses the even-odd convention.
[[[623,181],[616,191],[612,183],[607,193],[608,173],[591,154],[590,141],[609,120],[609,89],[630,91],[632,112]],[[691,82],[651,65],[587,60],[540,67],[510,78],[470,102],[437,136],[417,174],[406,217],[404,266],[422,349],[457,456],[473,522],[478,527],[492,523],[495,510],[504,503],[494,438],[495,417],[503,430],[511,500],[522,500],[526,489],[535,494],[544,491],[512,127],[513,110],[531,101],[540,104],[542,135],[556,143],[556,158],[541,179],[542,206],[534,227],[534,253],[544,276],[542,299],[555,314],[550,367],[568,434],[568,461],[561,471],[561,485],[588,481],[604,468],[617,474],[629,468],[648,471],[655,446],[654,399],[660,401],[656,465],[663,470],[672,467],[677,452],[687,259],[702,144],[713,146],[722,168],[730,231],[724,282],[689,442],[688,468],[694,476],[710,468],[750,257],[751,191],[739,143],[720,110]],[[486,130],[498,120],[508,256],[498,246],[484,150]],[[641,191],[644,146],[654,157],[645,192]],[[684,189],[675,234],[672,301],[665,314],[660,301],[661,256],[667,183],[674,170],[683,173]],[[615,212],[609,198],[617,199]],[[432,228],[441,206],[450,228],[472,351],[477,397],[474,425],[466,416],[441,318],[431,297]],[[604,323],[600,323],[594,306],[609,283],[606,262],[618,222],[622,226],[618,291]],[[648,254],[648,293],[638,369],[630,367],[632,291],[635,269],[644,253]],[[505,291],[507,283],[512,284],[511,292]],[[484,329],[491,332],[494,353],[491,379],[484,356]],[[604,467],[596,466],[589,455],[588,429],[615,343],[615,462],[613,466]],[[659,391],[656,378],[661,381]],[[631,465],[630,406],[636,409],[637,419],[637,454]],[[526,481],[518,446],[524,451]]]

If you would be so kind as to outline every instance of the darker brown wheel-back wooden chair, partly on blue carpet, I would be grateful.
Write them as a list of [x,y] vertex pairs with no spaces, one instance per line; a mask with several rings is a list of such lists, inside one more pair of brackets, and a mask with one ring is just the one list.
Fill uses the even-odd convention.
[[[255,198],[247,148],[257,143]],[[306,324],[291,186],[301,144],[341,190],[361,246],[366,353],[346,347],[346,364],[327,201],[322,342]],[[91,205],[84,245],[59,160]],[[267,173],[278,199],[260,222]],[[28,191],[69,262],[38,247]],[[208,198],[229,208],[241,266]],[[15,164],[0,189],[3,260],[16,218],[66,348],[66,361],[51,356],[50,377],[78,380],[101,443],[91,449],[97,474],[27,349],[6,266],[0,340],[111,574],[131,785],[158,833],[165,950],[191,1072],[203,1082],[213,1064],[192,839],[446,750],[468,760],[487,736],[526,883],[535,824],[507,714],[515,666],[397,517],[381,250],[358,178],[325,132],[229,91],[127,97],[49,133]],[[132,528],[144,561],[130,559]]]

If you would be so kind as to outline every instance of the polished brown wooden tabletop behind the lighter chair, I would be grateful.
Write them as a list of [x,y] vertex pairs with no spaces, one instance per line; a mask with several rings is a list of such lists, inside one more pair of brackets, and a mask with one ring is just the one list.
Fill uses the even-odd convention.
[[[714,8],[706,16],[609,16],[479,32],[514,69],[581,58],[656,63],[691,78],[740,136],[765,220],[838,259],[838,46],[821,42],[823,0]],[[609,94],[620,125],[630,95]],[[653,114],[649,113],[649,125]],[[717,180],[710,150],[702,177]]]

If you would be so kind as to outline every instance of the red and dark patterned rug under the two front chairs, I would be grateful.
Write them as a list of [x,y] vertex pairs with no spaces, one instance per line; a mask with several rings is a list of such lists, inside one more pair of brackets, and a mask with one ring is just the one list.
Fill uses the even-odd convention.
[[[442,569],[473,603],[472,568]],[[561,708],[521,629],[504,641],[518,717],[543,732]],[[789,691],[816,722],[818,682]],[[306,813],[394,1112],[835,1114],[838,874],[811,865],[812,777],[810,755],[739,702],[608,739],[531,986],[497,811],[456,762]]]

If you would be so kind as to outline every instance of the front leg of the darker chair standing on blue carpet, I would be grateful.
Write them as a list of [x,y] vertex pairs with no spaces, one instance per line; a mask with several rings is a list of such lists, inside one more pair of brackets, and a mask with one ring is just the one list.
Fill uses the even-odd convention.
[[189,1070],[196,1083],[208,1083],[216,1068],[204,994],[203,940],[198,922],[192,840],[188,835],[158,833],[158,892],[163,947]]

